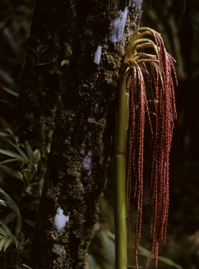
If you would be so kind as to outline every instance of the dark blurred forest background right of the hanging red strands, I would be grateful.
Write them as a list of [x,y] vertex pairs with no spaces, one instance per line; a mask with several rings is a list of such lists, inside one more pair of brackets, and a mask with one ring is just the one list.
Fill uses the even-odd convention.
[[184,4],[151,1],[150,7],[144,1],[142,26],[161,32],[167,51],[177,61],[178,119],[170,151],[167,243],[162,244],[160,255],[195,269],[199,268],[199,2]]

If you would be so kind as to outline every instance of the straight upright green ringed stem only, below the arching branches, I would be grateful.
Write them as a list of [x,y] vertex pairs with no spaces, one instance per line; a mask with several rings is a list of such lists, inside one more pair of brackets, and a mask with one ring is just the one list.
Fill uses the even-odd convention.
[[122,66],[115,135],[115,268],[127,268],[127,198],[129,148],[129,87]]

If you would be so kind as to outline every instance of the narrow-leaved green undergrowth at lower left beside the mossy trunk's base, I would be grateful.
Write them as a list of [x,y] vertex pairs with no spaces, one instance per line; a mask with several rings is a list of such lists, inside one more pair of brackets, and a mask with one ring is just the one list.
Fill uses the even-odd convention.
[[[10,129],[0,132],[0,263],[30,268],[30,247],[43,187],[38,176],[40,151],[19,143]],[[24,264],[21,266],[21,263]]]

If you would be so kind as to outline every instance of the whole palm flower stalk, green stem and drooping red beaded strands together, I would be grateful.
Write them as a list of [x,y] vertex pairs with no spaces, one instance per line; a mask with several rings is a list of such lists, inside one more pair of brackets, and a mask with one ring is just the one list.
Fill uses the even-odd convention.
[[152,187],[150,261],[155,258],[156,267],[160,243],[166,240],[169,151],[173,120],[177,116],[172,80],[173,72],[177,84],[174,61],[166,52],[161,34],[147,27],[135,31],[125,51],[120,72],[115,137],[115,263],[117,269],[127,268],[132,182],[134,197],[137,198],[135,261],[138,268],[144,158],[147,203],[149,202],[148,185]]

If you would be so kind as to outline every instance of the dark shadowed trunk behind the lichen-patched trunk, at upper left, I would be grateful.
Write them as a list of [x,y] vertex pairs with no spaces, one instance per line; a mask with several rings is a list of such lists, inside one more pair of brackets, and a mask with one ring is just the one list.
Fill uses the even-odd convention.
[[[28,40],[26,63],[21,73],[18,133],[47,159],[61,94],[61,61],[64,42],[70,43],[74,23],[70,0],[36,0]],[[45,165],[44,165],[45,166]]]

